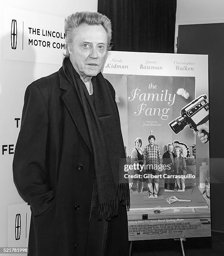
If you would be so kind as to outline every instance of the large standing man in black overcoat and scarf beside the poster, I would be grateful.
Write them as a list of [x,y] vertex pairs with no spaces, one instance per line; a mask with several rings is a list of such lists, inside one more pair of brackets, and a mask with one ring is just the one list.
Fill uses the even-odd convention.
[[74,13],[65,34],[63,66],[27,87],[13,160],[31,205],[29,255],[127,255],[125,151],[115,91],[101,74],[111,23]]

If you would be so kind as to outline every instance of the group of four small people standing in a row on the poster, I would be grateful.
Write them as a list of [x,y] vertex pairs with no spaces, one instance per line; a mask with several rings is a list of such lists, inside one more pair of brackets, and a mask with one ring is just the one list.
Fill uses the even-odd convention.
[[[149,144],[143,150],[141,148],[142,139],[136,138],[135,148],[131,154],[131,164],[139,164],[139,168],[134,169],[134,174],[138,174],[137,192],[143,192],[143,179],[146,178],[149,197],[158,197],[159,179],[162,178],[159,172],[162,170],[165,170],[165,191],[174,191],[175,186],[178,191],[184,191],[186,161],[182,156],[182,148],[180,146],[174,147],[172,143],[168,143],[168,149],[162,156],[160,146],[155,144],[154,135],[148,137],[148,142]],[[148,175],[144,176],[142,172]]]

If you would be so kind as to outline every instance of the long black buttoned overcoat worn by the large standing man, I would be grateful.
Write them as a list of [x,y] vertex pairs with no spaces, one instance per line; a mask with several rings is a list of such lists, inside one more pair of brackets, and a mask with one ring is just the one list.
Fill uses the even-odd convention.
[[[61,68],[27,87],[15,147],[14,182],[31,205],[29,255],[86,255],[93,175],[84,112]],[[107,255],[127,255],[126,207],[109,230]]]

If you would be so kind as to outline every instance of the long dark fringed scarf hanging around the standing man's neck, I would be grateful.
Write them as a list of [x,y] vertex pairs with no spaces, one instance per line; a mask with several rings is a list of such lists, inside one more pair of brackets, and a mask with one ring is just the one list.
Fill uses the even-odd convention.
[[97,180],[98,218],[102,220],[104,216],[110,220],[118,214],[120,203],[130,203],[128,179],[124,178],[126,158],[116,102],[101,73],[92,78],[93,105],[84,82],[68,57],[64,58],[63,70],[79,95],[87,120]]

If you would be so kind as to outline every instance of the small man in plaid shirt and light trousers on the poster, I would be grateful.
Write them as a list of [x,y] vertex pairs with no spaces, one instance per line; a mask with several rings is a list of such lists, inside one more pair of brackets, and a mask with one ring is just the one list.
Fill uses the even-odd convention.
[[[160,147],[155,144],[154,135],[150,135],[148,137],[148,142],[149,144],[145,147],[144,156],[143,156],[143,164],[146,166],[145,172],[151,175],[159,175],[158,165],[163,164],[163,158],[160,152]],[[147,179],[147,183],[148,183],[149,197],[150,198],[158,197],[159,179],[149,177]],[[154,187],[153,187],[153,183],[154,183]]]

